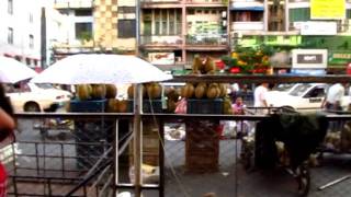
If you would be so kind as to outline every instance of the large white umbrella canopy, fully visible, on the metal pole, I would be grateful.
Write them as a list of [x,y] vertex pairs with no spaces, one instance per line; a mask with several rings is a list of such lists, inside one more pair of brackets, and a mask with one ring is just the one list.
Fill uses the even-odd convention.
[[165,81],[172,76],[154,65],[125,55],[80,54],[68,56],[32,79],[35,83],[144,83]]

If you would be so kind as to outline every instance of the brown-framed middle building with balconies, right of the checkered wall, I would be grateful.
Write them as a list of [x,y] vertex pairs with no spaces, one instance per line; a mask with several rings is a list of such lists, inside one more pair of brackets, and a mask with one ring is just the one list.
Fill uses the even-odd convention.
[[140,54],[163,68],[229,50],[224,0],[141,0]]

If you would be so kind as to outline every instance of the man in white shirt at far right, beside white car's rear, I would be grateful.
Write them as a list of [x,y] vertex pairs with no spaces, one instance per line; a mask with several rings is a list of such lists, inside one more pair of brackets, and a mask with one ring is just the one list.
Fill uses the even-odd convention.
[[328,89],[321,107],[331,111],[342,111],[341,101],[343,96],[344,86],[341,83],[336,83]]

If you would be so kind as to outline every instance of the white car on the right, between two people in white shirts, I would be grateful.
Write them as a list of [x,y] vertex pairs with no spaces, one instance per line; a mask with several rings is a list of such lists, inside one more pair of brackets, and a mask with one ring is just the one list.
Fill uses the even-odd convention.
[[[325,99],[328,84],[326,83],[298,83],[285,93],[268,92],[267,102],[273,107],[290,107],[297,111],[318,111]],[[349,96],[343,96],[341,105],[346,108]]]

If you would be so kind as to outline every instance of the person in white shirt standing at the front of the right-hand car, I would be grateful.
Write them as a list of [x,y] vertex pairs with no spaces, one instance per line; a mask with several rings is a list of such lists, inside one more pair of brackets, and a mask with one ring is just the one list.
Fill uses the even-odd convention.
[[267,103],[268,88],[269,88],[269,83],[263,82],[254,89],[253,106],[258,107],[257,113],[259,114],[265,114],[265,111],[263,108],[260,109],[260,107],[268,107],[268,103]]

